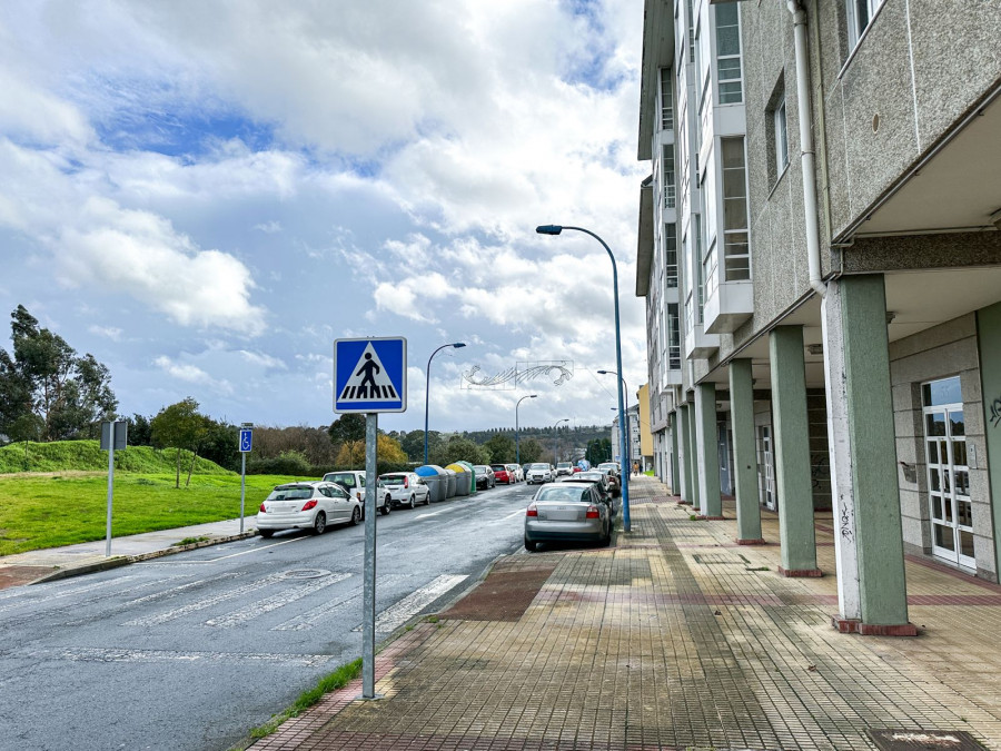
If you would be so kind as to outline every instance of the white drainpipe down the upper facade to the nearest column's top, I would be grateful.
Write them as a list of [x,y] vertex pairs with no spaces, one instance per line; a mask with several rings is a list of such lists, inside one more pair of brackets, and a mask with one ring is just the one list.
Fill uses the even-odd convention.
[[823,297],[827,286],[821,280],[820,229],[816,226],[816,164],[813,145],[813,108],[810,103],[810,62],[806,59],[806,10],[802,0],[786,0],[793,14],[796,50],[796,100],[800,105],[800,164],[803,170],[803,214],[806,223],[806,263],[810,286]]

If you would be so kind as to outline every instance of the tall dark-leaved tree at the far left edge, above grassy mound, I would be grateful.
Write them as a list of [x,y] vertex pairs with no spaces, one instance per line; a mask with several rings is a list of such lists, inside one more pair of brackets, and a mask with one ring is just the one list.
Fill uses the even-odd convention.
[[113,419],[118,407],[108,368],[39,328],[23,305],[10,317],[13,356],[0,349],[0,432],[34,414],[44,426],[43,441],[96,435],[97,423]]

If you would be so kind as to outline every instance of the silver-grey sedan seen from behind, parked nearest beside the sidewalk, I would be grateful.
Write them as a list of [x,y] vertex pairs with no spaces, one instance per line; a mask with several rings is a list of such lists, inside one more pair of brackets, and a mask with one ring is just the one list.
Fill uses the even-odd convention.
[[525,510],[525,550],[542,542],[612,542],[612,513],[593,483],[563,482],[538,488]]

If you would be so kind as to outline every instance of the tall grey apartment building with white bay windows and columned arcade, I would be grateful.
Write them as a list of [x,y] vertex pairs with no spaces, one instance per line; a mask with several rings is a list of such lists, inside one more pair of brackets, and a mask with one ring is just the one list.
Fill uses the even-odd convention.
[[1001,3],[646,0],[654,468],[911,633],[903,556],[1001,570]]

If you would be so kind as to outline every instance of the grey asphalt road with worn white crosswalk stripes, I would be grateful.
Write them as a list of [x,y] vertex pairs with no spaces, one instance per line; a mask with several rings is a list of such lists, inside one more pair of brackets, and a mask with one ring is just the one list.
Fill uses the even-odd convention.
[[[522,547],[536,488],[377,517],[376,639]],[[364,526],[0,592],[0,749],[228,749],[361,654]]]

